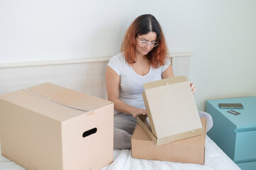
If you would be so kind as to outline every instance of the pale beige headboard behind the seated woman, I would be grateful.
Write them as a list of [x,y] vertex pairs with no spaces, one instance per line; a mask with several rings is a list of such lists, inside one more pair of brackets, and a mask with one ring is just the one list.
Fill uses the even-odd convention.
[[[174,75],[189,78],[191,52],[170,53]],[[0,64],[0,95],[51,82],[106,98],[105,70],[111,57]]]

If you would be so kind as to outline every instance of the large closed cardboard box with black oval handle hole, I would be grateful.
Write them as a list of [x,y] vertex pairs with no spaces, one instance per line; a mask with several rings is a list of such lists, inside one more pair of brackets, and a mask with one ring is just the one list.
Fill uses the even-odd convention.
[[0,96],[1,153],[26,169],[101,169],[113,162],[113,103],[55,84]]

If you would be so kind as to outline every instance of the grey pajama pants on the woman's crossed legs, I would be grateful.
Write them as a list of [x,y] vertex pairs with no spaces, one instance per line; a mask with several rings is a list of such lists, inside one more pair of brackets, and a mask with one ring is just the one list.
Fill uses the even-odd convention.
[[[206,112],[199,111],[200,118],[207,119],[207,132],[213,127],[213,118]],[[113,121],[113,148],[130,149],[130,138],[137,124],[136,118],[126,113],[114,115]]]

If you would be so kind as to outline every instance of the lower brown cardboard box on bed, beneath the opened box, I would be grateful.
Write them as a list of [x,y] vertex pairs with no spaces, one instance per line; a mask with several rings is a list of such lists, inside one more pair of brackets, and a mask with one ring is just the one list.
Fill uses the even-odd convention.
[[204,164],[206,118],[201,118],[204,133],[185,140],[157,146],[140,125],[136,125],[131,138],[132,157],[169,162]]

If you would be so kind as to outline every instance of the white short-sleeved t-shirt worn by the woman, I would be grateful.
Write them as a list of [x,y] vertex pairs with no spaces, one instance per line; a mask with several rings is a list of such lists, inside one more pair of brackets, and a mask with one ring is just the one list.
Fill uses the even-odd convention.
[[[169,60],[166,60],[165,65],[157,69],[150,66],[148,74],[141,76],[126,62],[126,58],[122,53],[113,56],[108,62],[108,66],[120,76],[119,99],[130,106],[144,109],[145,104],[142,95],[144,91],[143,84],[162,79],[162,73],[169,67],[169,64]],[[120,112],[115,111],[115,115],[118,113]]]

